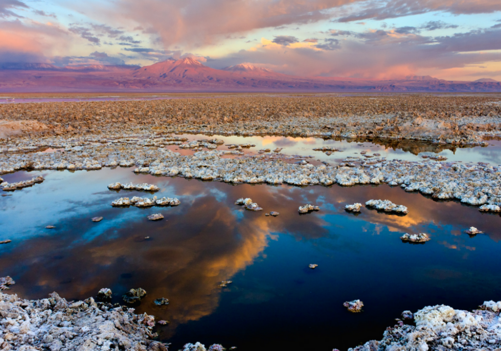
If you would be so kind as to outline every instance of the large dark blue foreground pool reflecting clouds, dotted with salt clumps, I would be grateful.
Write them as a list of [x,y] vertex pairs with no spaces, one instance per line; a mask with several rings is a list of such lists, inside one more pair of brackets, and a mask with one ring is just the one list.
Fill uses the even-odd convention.
[[[201,182],[137,175],[131,168],[5,174],[8,182],[44,175],[46,181],[0,197],[0,276],[16,280],[11,292],[68,300],[130,288],[147,296],[137,312],[170,321],[160,339],[177,350],[200,341],[238,350],[347,349],[380,339],[403,310],[448,304],[473,309],[499,300],[501,218],[458,202],[436,202],[396,187],[290,187]],[[112,182],[156,184],[157,196],[177,197],[172,208],[112,208]],[[262,212],[234,205],[251,197]],[[346,204],[388,199],[409,208],[395,216]],[[311,203],[321,211],[300,215]],[[280,216],[265,217],[278,211]],[[146,216],[162,213],[150,222]],[[91,217],[103,216],[99,223]],[[47,225],[55,229],[45,229]],[[469,237],[477,227],[486,234]],[[427,233],[423,245],[402,243],[403,233]],[[145,239],[150,237],[150,239]],[[308,264],[316,263],[311,270]],[[231,279],[226,288],[218,287]],[[157,307],[153,300],[170,304]],[[347,300],[361,299],[352,314]]]

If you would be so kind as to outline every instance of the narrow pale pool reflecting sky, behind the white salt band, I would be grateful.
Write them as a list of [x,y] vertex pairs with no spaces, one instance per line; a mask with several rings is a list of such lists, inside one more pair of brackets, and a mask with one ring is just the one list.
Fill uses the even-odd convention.
[[[189,141],[217,138],[224,140],[224,144],[220,145],[218,150],[227,150],[227,144],[254,144],[255,147],[244,148],[242,151],[245,154],[259,155],[258,151],[262,149],[271,149],[272,151],[277,148],[283,148],[281,151],[284,155],[298,155],[300,157],[313,156],[310,162],[318,164],[316,160],[328,162],[330,164],[337,164],[343,162],[347,156],[360,157],[365,159],[360,152],[366,152],[366,155],[373,155],[379,153],[380,156],[387,159],[404,159],[409,161],[422,161],[423,155],[442,155],[447,157],[447,161],[452,162],[486,162],[493,165],[501,164],[501,141],[488,140],[489,145],[482,146],[467,146],[458,147],[457,145],[438,145],[424,141],[416,140],[352,140],[352,139],[322,139],[322,138],[302,138],[291,136],[224,136],[224,135],[211,135],[208,137],[203,134],[178,134],[178,136],[185,137]],[[342,150],[335,151],[331,155],[327,155],[322,151],[315,151],[314,148],[321,148],[323,146],[330,146]],[[179,149],[176,145],[168,146],[168,148],[181,152],[182,154],[192,154],[193,151],[188,149]],[[298,157],[298,158],[300,158]],[[370,158],[369,158],[370,159]],[[356,159],[352,159],[356,161]]]

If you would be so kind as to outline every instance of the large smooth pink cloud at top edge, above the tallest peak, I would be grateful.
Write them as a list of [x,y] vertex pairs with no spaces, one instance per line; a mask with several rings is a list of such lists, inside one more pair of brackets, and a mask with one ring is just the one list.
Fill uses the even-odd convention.
[[122,0],[110,16],[151,27],[166,48],[212,45],[228,34],[307,24],[332,17],[331,9],[362,0]]

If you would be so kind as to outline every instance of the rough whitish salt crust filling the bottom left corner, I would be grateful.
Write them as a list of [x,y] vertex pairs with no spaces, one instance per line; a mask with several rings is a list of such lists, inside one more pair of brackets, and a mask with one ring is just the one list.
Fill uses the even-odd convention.
[[0,293],[0,349],[167,351],[152,340],[153,316],[96,303],[92,297],[68,303],[55,292],[49,296],[25,300]]

